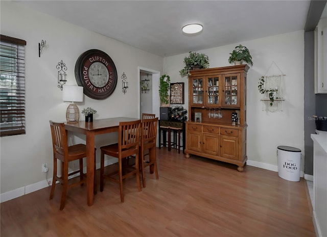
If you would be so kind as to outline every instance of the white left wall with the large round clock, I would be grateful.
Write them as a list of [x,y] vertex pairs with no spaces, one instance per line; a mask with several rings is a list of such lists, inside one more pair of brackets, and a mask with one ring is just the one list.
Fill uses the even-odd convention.
[[[24,39],[26,45],[26,135],[1,138],[1,194],[45,180],[41,164],[49,164],[52,177],[52,142],[49,120],[65,121],[67,102],[57,87],[56,65],[67,66],[67,85],[77,85],[74,68],[77,58],[88,49],[105,51],[113,60],[118,83],[105,100],[90,99],[77,103],[80,111],[92,107],[98,111],[94,119],[138,116],[138,67],[162,71],[162,58],[119,41],[87,31],[11,1],[1,1],[1,34]],[[46,48],[38,57],[38,43],[46,40]],[[125,72],[129,88],[122,92],[121,75]],[[81,120],[84,117],[81,115]],[[96,146],[110,143],[112,137],[101,135]],[[105,140],[108,139],[108,140]],[[113,139],[113,138],[112,138]],[[74,142],[85,143],[84,137]],[[99,162],[100,152],[97,151]],[[45,182],[46,183],[46,182]],[[24,193],[23,193],[24,194]],[[3,195],[2,195],[3,198]]]

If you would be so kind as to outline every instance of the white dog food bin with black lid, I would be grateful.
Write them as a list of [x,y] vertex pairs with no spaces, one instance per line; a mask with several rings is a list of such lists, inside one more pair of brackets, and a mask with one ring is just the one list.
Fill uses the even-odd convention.
[[279,177],[289,181],[300,181],[300,149],[291,146],[278,146],[277,161]]

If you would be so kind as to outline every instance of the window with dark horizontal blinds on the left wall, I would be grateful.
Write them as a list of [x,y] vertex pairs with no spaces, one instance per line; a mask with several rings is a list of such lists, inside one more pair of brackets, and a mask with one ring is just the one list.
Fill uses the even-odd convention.
[[0,134],[25,134],[26,41],[0,35]]

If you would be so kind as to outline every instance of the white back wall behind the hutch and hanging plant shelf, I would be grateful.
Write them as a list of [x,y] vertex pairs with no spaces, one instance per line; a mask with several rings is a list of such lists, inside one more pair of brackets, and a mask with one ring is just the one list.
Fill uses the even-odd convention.
[[[253,67],[247,73],[247,164],[277,171],[276,149],[279,145],[293,146],[304,154],[304,32],[296,31],[272,37],[240,42],[250,50]],[[229,66],[229,52],[238,44],[200,50],[209,57],[210,67]],[[178,73],[183,68],[184,55],[168,57],[167,73],[171,82],[184,82],[185,104],[188,108],[188,78]],[[285,76],[282,112],[263,111],[262,94],[258,90],[262,75]],[[269,71],[268,69],[271,68]],[[302,155],[303,157],[303,155]],[[301,162],[302,164],[303,161]],[[302,165],[303,167],[303,165]],[[303,169],[302,169],[303,170]]]

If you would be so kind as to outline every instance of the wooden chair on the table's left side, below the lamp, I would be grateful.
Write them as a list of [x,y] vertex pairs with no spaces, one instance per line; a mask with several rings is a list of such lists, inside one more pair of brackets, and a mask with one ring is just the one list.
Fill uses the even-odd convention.
[[[67,190],[77,185],[83,185],[83,183],[86,182],[86,179],[84,179],[85,174],[83,174],[83,158],[86,157],[86,146],[85,144],[68,146],[67,133],[64,123],[58,123],[51,120],[49,122],[53,147],[53,179],[50,192],[50,200],[53,199],[54,196],[56,181],[59,181],[62,184],[60,201],[60,210],[62,210],[65,206]],[[57,176],[57,160],[61,162],[61,177]],[[79,160],[79,170],[68,173],[68,163],[75,160]],[[96,172],[96,160],[94,172]],[[80,181],[68,184],[68,176],[77,173],[80,173]],[[94,187],[94,193],[96,193],[96,182]]]

